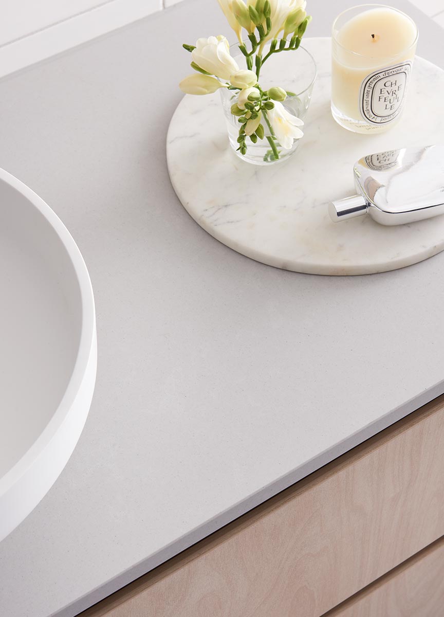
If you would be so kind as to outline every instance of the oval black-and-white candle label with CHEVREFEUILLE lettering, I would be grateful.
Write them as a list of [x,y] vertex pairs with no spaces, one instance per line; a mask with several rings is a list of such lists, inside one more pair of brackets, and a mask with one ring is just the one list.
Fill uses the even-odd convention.
[[400,114],[411,72],[411,61],[379,69],[361,85],[360,108],[371,124],[388,124]]

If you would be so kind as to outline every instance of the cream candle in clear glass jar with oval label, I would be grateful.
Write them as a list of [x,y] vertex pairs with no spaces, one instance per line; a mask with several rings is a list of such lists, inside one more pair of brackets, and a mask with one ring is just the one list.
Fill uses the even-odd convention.
[[355,133],[382,133],[398,122],[417,37],[408,15],[382,4],[353,7],[335,19],[331,110],[337,123]]

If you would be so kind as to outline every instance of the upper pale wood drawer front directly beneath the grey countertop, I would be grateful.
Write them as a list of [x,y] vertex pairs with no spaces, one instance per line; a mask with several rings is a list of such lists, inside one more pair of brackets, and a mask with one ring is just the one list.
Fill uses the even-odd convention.
[[444,535],[444,396],[82,613],[319,617]]

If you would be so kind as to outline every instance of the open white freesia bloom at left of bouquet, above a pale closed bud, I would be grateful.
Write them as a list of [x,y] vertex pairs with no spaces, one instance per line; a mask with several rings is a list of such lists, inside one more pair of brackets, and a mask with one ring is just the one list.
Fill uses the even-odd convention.
[[221,79],[229,80],[239,70],[237,62],[230,56],[229,43],[222,35],[197,39],[191,57],[204,71]]

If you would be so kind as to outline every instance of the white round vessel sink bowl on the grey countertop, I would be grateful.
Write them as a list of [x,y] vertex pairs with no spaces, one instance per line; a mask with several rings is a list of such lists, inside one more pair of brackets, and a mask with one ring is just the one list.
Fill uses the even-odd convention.
[[72,236],[0,169],[0,541],[54,484],[96,381],[91,281]]

